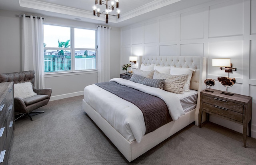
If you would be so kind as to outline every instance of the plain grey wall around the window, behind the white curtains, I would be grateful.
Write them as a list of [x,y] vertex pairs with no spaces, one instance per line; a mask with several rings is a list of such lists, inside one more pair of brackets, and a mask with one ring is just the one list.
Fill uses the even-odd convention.
[[[18,17],[18,14],[20,12],[0,10],[0,73],[21,71],[22,18]],[[46,17],[44,23],[97,29],[97,24],[54,17]],[[110,77],[118,78],[120,70],[120,28],[112,27],[110,34]],[[45,87],[52,88],[50,100],[83,95],[84,87],[96,82],[97,71],[45,75]]]

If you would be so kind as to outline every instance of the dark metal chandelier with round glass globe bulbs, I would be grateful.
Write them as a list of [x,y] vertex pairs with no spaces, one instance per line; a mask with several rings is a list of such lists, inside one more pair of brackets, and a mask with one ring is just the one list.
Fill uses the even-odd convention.
[[[96,16],[96,12],[97,12],[98,17],[100,16],[100,14],[106,15],[106,24],[108,23],[108,15],[117,16],[117,18],[119,18],[119,16],[120,16],[119,14],[121,12],[120,9],[116,10],[117,15],[110,14],[110,12],[112,12],[114,10],[114,7],[116,7],[116,8],[119,7],[119,0],[115,0],[115,1],[116,1],[116,3],[114,2],[114,0],[99,0],[100,5],[102,5],[102,4],[106,5],[106,9],[103,12],[100,12],[100,8],[98,7],[98,0],[95,0],[95,5],[92,6],[93,15]],[[115,4],[116,4],[116,6],[115,6]]]

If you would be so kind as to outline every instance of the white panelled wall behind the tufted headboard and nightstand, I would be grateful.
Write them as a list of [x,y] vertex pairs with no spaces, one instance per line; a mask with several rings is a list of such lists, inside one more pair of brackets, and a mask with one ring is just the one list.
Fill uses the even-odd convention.
[[[237,68],[228,90],[250,95],[252,137],[256,138],[256,0],[216,0],[121,28],[121,64],[129,56],[204,56],[214,89],[226,90],[217,78],[228,76],[212,67],[212,58],[231,58]],[[122,71],[120,71],[122,73]],[[210,121],[242,133],[242,125],[218,117]]]

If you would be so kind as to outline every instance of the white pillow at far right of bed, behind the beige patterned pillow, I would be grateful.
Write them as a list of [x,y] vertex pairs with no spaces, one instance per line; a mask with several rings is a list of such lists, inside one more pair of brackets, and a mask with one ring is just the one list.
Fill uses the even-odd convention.
[[190,91],[190,80],[192,77],[192,74],[195,70],[192,68],[175,68],[174,66],[170,69],[170,74],[172,75],[180,75],[180,74],[188,74],[188,80],[185,83],[183,89],[184,91]]

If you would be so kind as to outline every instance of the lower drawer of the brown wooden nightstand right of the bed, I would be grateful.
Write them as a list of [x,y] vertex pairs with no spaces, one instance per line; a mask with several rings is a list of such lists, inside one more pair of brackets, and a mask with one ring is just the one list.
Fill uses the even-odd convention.
[[243,113],[238,113],[236,111],[232,111],[230,109],[224,109],[223,107],[219,107],[216,105],[202,103],[202,111],[206,111],[209,113],[214,113],[217,115],[221,115],[227,117],[229,119],[233,119],[239,122],[243,122]]

